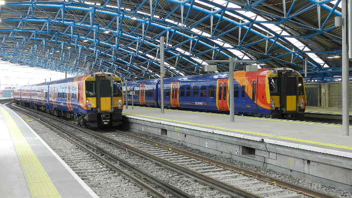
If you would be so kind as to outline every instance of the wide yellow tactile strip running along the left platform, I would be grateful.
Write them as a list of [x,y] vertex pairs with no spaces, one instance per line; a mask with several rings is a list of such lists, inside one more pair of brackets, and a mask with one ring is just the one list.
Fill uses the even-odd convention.
[[10,114],[0,106],[7,122],[32,197],[61,197]]

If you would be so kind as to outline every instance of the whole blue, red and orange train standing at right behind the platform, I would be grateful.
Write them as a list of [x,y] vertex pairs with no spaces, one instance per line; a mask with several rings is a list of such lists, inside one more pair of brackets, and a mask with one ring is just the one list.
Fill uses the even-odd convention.
[[[228,113],[228,78],[228,72],[166,78],[164,107]],[[299,120],[304,117],[303,78],[293,69],[236,71],[233,86],[237,115]],[[291,93],[285,90],[289,86],[293,86]],[[127,89],[134,92],[135,105],[160,107],[160,79],[129,81]],[[132,104],[131,94],[128,103]]]

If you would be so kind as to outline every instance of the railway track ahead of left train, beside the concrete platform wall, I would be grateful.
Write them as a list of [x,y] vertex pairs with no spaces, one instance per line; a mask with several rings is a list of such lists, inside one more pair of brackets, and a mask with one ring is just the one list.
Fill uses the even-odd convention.
[[[72,123],[65,123],[76,127]],[[171,148],[167,145],[131,136],[121,131],[118,133],[116,131],[97,133],[82,128],[78,129],[84,131],[84,133],[89,133],[97,138],[104,139],[111,144],[117,145],[118,147],[123,148],[126,152],[132,152],[133,154],[143,156],[147,159],[147,161],[142,161],[144,164],[149,164],[150,162],[153,164],[155,162],[162,164],[163,167],[168,167],[169,169],[176,170],[178,173],[187,175],[188,179],[191,178],[191,180],[196,180],[203,185],[206,185],[202,186],[202,188],[216,188],[221,192],[225,192],[224,194],[217,194],[218,197],[243,196],[284,198],[302,197],[302,194],[312,197],[333,197],[329,194],[293,185],[267,175],[261,175],[259,173],[231,167],[222,164],[221,162]],[[107,156],[111,154],[109,151],[101,151],[103,150],[101,148],[95,149]],[[115,158],[115,160],[122,161],[123,159]],[[145,173],[141,174],[146,175]]]

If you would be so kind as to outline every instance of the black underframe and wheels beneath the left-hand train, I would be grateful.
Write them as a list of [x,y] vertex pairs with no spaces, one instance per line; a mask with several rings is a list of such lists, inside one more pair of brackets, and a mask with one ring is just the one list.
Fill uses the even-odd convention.
[[18,105],[30,107],[37,111],[43,111],[54,115],[56,117],[65,117],[73,120],[78,125],[83,127],[97,128],[97,127],[116,127],[122,124],[122,112],[97,113],[90,112],[88,114],[74,114],[73,112],[66,112],[58,109],[50,109],[46,106],[32,105],[30,103],[16,102]]

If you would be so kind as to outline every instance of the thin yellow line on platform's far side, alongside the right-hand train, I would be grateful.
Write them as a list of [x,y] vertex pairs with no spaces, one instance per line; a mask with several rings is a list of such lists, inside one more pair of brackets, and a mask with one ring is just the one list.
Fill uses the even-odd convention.
[[[146,109],[154,109],[149,107],[138,107],[138,108],[146,108]],[[166,110],[166,111],[182,111],[182,110]],[[205,113],[205,112],[191,112],[191,111],[182,111],[185,113],[192,113],[192,114],[205,114],[205,115],[212,115],[212,116],[226,116],[226,114],[212,114],[212,113]],[[301,122],[301,121],[290,121],[290,120],[280,120],[280,119],[267,119],[267,118],[255,118],[255,117],[247,117],[247,116],[235,116],[236,118],[245,118],[245,119],[255,119],[255,120],[266,120],[271,122],[286,122],[286,123],[297,123],[297,124],[307,124],[307,125],[319,125],[319,126],[329,126],[329,127],[342,127],[341,125],[330,125],[330,124],[321,124],[321,123],[309,123],[309,122]],[[349,128],[352,128],[350,126]]]

